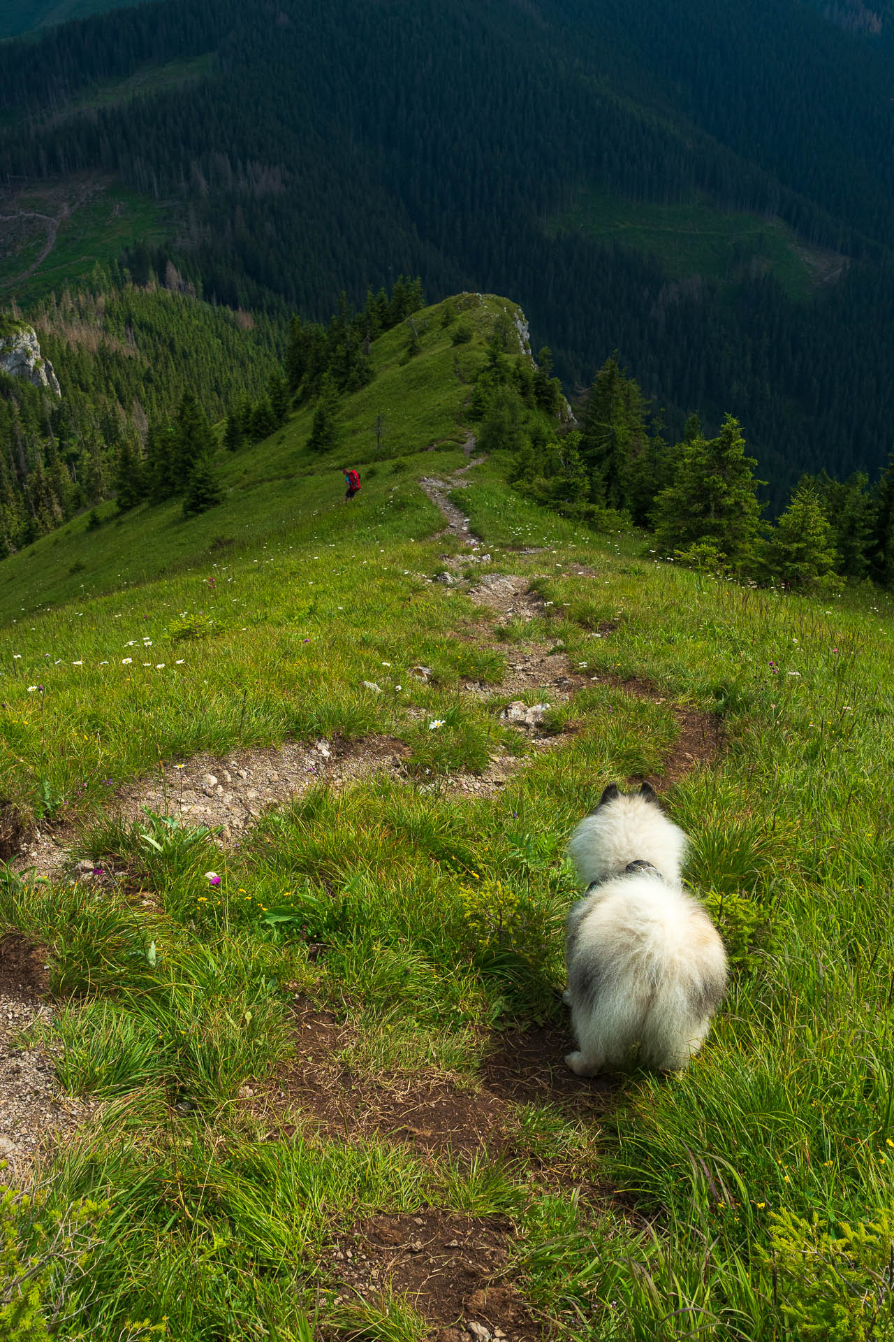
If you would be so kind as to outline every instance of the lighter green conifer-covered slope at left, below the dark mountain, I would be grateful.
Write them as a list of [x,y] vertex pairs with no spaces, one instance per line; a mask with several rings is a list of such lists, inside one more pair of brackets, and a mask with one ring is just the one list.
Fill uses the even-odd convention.
[[95,293],[29,314],[55,391],[4,373],[4,349],[28,327],[0,314],[0,558],[110,495],[122,507],[141,497],[147,447],[184,396],[201,423],[265,397],[281,330],[182,293],[177,279],[172,268],[172,287],[138,287],[97,271]]

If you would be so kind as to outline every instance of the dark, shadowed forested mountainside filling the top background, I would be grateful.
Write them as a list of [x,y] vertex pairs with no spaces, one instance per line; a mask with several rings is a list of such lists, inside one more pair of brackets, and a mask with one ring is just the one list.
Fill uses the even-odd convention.
[[891,446],[890,68],[795,0],[162,0],[0,48],[0,180],[119,180],[168,220],[133,279],[232,307],[512,293],[570,388],[617,349],[672,436],[736,415],[780,503]]

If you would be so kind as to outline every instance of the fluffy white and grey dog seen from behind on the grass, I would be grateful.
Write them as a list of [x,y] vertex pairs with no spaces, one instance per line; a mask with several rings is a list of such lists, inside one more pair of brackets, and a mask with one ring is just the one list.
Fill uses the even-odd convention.
[[[634,1059],[680,1071],[701,1048],[726,986],[726,954],[710,918],[681,883],[686,836],[643,788],[606,788],[568,845],[582,886],[572,906],[566,958],[579,1076]],[[625,875],[642,859],[655,871]]]

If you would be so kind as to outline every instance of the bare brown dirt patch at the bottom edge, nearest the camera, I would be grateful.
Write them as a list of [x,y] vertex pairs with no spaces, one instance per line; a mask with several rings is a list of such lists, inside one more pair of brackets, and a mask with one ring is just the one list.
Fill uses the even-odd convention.
[[535,1342],[547,1335],[508,1280],[512,1223],[422,1209],[375,1216],[334,1243],[342,1300],[407,1298],[438,1342]]

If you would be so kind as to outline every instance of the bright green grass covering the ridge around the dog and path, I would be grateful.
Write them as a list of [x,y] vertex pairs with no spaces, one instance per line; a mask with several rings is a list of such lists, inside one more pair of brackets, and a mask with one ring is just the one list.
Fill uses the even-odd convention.
[[[472,315],[483,333],[485,310]],[[340,462],[308,458],[302,412],[227,464],[213,513],[142,509],[94,534],[79,519],[0,565],[0,796],[67,817],[78,852],[121,878],[0,879],[0,925],[48,946],[70,998],[59,1075],[106,1102],[47,1170],[50,1210],[90,1225],[86,1275],[47,1284],[47,1308],[62,1335],[99,1339],[424,1337],[399,1292],[336,1304],[331,1244],[371,1213],[436,1208],[512,1219],[516,1280],[567,1342],[890,1337],[887,1259],[848,1251],[851,1290],[810,1228],[785,1256],[779,1220],[816,1215],[840,1237],[893,1206],[889,603],[661,565],[642,537],[596,537],[519,498],[497,459],[456,497],[495,570],[528,574],[550,604],[483,647],[481,612],[425,581],[456,546],[417,484],[462,462],[465,385],[436,322],[409,368],[401,346],[379,342],[379,378],[346,409],[338,458],[369,463],[354,506]],[[480,344],[461,357],[470,372]],[[378,409],[397,471],[371,460]],[[214,535],[232,544],[212,550]],[[74,558],[86,570],[71,576]],[[216,624],[170,640],[182,612]],[[602,679],[558,714],[575,723],[560,749],[493,797],[454,797],[445,770],[507,742],[499,650],[521,637]],[[429,683],[407,678],[418,662]],[[491,699],[462,694],[464,676]],[[629,676],[665,702],[604,683]],[[567,836],[606,781],[661,770],[674,702],[722,719],[722,758],[666,800],[735,953],[684,1078],[626,1076],[599,1123],[516,1106],[508,1162],[331,1141],[288,1107],[279,1130],[240,1104],[244,1086],[276,1096],[296,994],[346,1024],[340,1067],[383,1084],[422,1072],[474,1090],[505,1027],[562,1025]],[[335,733],[403,739],[409,778],[315,788],[227,851],[105,815],[106,780],[158,758]]]

